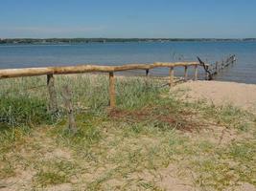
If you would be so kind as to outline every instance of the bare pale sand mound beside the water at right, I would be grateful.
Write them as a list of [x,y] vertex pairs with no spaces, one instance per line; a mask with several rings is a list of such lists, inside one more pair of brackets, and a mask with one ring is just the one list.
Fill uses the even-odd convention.
[[232,104],[256,113],[256,85],[222,81],[188,81],[175,86],[184,91],[183,98],[206,99],[216,105]]

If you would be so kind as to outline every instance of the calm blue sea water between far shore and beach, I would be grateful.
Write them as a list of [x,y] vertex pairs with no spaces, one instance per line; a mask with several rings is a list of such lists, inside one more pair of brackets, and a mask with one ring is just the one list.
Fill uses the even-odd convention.
[[[229,54],[237,63],[217,80],[256,84],[256,42],[91,43],[64,45],[0,45],[0,69],[77,64],[122,65],[154,61],[219,61]],[[178,69],[176,74],[182,74]],[[166,75],[168,69],[152,74]]]

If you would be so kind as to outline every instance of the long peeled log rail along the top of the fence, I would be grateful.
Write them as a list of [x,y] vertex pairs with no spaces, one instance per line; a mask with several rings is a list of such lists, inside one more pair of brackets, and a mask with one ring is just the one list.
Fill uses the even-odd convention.
[[97,65],[78,65],[64,67],[46,68],[24,68],[24,69],[4,69],[0,70],[1,78],[12,78],[22,76],[35,76],[44,74],[81,74],[81,73],[113,73],[129,70],[150,70],[160,67],[188,67],[198,66],[199,62],[155,62],[153,64],[128,64],[123,66],[97,66]]

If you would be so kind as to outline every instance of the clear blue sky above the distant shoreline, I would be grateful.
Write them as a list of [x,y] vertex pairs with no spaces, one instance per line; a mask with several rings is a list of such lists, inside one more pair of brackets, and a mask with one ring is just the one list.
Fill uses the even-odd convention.
[[15,37],[256,37],[256,0],[0,0]]

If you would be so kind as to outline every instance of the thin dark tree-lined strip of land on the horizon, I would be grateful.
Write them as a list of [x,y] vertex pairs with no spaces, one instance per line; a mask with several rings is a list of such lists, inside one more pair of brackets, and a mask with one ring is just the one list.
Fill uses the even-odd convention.
[[60,44],[108,42],[240,42],[256,38],[0,38],[0,44]]

